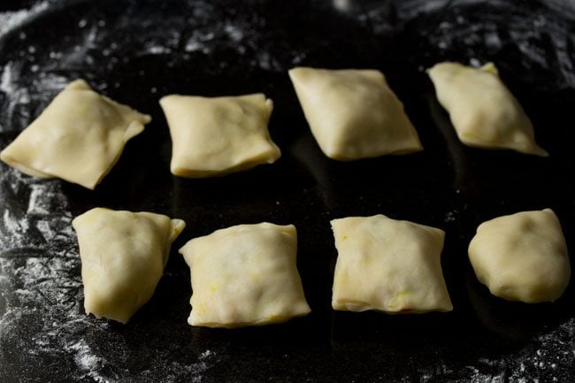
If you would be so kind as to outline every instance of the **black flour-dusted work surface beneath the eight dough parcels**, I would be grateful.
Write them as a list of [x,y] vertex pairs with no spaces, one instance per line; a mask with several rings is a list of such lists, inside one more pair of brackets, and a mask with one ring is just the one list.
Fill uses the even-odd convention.
[[[69,80],[153,121],[95,191],[0,164],[0,381],[575,381],[575,295],[510,303],[467,258],[480,222],[550,207],[575,249],[575,5],[524,1],[4,1],[0,149]],[[550,157],[457,141],[425,69],[493,61]],[[288,80],[296,65],[387,75],[425,151],[342,163],[314,142]],[[221,178],[169,172],[157,100],[265,92],[282,150],[273,165]],[[188,226],[153,298],[127,325],[83,313],[73,217],[96,206],[155,211]],[[387,316],[331,309],[329,220],[377,213],[441,227],[455,309]],[[190,238],[242,223],[298,229],[311,315],[286,324],[188,326]]]

